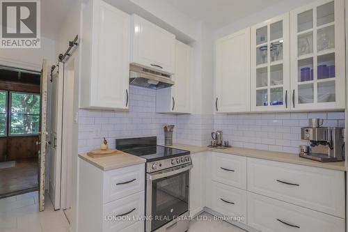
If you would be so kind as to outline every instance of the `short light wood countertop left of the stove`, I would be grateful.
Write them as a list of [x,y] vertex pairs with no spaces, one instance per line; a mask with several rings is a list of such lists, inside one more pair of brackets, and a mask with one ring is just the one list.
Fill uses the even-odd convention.
[[102,169],[103,171],[109,171],[112,169],[120,169],[122,167],[132,166],[136,164],[143,164],[146,160],[142,157],[130,155],[128,153],[119,153],[117,155],[109,155],[105,157],[93,158],[85,154],[79,154],[79,157],[86,162],[94,165],[95,167]]

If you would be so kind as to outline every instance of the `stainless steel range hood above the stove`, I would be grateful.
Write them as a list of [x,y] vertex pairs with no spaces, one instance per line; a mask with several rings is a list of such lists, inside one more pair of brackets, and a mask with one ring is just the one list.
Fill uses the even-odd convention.
[[168,74],[131,64],[129,65],[129,84],[159,89],[171,87],[174,82]]

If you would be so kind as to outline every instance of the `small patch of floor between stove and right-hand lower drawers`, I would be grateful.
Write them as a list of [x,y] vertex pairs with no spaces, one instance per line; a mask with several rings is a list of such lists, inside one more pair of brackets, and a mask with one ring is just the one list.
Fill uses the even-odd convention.
[[203,212],[200,216],[207,216],[208,220],[193,221],[189,232],[246,232],[227,222],[214,221],[212,215],[207,212]]

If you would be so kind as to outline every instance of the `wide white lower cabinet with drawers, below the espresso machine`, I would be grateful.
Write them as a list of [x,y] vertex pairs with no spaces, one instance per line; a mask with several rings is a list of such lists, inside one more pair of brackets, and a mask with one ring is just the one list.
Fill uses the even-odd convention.
[[246,231],[345,231],[343,171],[211,152],[205,186],[207,211]]

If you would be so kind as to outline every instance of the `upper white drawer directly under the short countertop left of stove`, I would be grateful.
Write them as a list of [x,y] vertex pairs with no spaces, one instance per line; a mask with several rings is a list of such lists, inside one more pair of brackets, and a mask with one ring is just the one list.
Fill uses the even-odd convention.
[[104,173],[104,203],[145,190],[145,164]]

